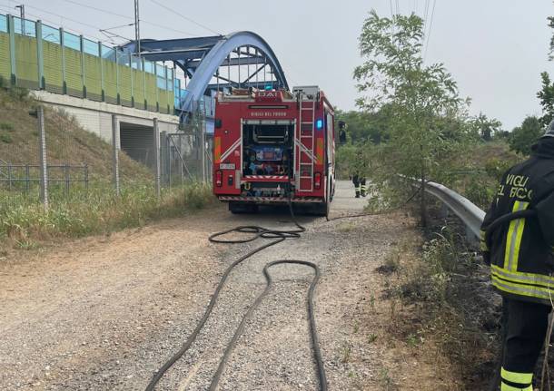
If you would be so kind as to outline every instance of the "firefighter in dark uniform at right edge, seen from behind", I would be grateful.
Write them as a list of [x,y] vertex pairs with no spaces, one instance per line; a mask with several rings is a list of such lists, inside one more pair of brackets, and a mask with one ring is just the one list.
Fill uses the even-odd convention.
[[529,160],[502,177],[481,236],[492,285],[502,296],[500,389],[532,391],[554,300],[554,122]]

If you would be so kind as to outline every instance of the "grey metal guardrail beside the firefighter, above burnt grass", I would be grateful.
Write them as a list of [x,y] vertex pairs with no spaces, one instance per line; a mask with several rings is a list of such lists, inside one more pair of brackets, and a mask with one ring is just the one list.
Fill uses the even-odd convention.
[[480,210],[477,205],[456,191],[451,191],[440,183],[426,182],[425,191],[440,200],[454,212],[468,228],[468,234],[471,233],[475,238],[480,239],[480,227],[485,219],[485,212],[483,210]]

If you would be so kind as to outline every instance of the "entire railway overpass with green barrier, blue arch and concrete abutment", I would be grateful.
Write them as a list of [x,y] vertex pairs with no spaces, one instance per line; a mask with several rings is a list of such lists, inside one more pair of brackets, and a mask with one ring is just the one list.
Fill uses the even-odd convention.
[[[152,166],[155,145],[161,145],[169,156],[163,164],[181,171],[186,156],[202,161],[204,171],[211,168],[206,161],[218,91],[288,89],[271,46],[252,32],[114,47],[15,15],[0,15],[0,78],[73,114],[85,130],[137,161]],[[185,137],[188,122],[195,135]],[[199,139],[204,142],[191,141]]]

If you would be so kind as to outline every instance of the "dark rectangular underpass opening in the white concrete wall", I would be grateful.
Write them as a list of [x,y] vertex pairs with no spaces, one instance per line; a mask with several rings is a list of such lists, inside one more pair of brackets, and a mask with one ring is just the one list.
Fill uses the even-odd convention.
[[120,122],[119,140],[121,150],[131,159],[143,163],[151,169],[154,168],[153,126]]

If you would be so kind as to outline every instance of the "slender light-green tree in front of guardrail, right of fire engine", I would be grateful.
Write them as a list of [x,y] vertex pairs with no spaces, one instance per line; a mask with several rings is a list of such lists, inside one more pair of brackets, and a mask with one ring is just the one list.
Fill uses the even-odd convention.
[[[387,108],[390,140],[382,143],[384,163],[378,183],[390,184],[394,174],[422,179],[444,170],[460,152],[467,127],[450,126],[463,112],[458,88],[443,64],[423,64],[423,20],[417,15],[366,18],[360,49],[364,64],[354,78],[363,97],[359,107],[370,112]],[[374,172],[379,175],[379,172]],[[426,225],[424,191],[421,223]]]

